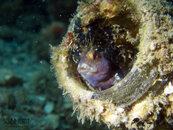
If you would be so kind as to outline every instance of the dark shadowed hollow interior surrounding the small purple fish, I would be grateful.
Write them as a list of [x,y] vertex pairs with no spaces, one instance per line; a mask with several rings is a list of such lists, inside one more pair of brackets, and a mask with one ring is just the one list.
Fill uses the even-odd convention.
[[129,13],[124,11],[109,20],[97,19],[84,27],[81,25],[81,19],[76,18],[73,33],[75,41],[69,50],[69,70],[74,77],[90,86],[90,89],[93,86],[81,76],[77,66],[82,55],[91,50],[101,53],[109,61],[111,72],[117,80],[115,83],[121,81],[131,70],[138,53],[139,22],[130,18]]

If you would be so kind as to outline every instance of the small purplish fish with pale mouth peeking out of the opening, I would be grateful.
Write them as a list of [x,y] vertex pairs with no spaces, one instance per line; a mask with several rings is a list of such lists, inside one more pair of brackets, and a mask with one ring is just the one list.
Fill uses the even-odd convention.
[[109,61],[103,54],[94,51],[83,54],[77,70],[94,88],[104,90],[114,85],[115,77],[111,73]]

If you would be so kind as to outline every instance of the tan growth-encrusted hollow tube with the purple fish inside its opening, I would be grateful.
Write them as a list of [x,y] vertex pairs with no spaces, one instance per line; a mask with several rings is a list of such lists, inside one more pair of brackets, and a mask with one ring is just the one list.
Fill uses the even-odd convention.
[[79,120],[128,129],[153,129],[163,117],[171,124],[171,10],[165,0],[79,2],[51,55],[59,86]]

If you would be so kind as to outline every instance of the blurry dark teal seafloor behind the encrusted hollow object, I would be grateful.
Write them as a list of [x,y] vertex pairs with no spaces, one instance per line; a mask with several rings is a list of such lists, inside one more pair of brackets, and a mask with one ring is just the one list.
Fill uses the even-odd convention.
[[76,0],[0,1],[0,129],[104,129],[72,116],[58,88],[50,45],[60,44]]

